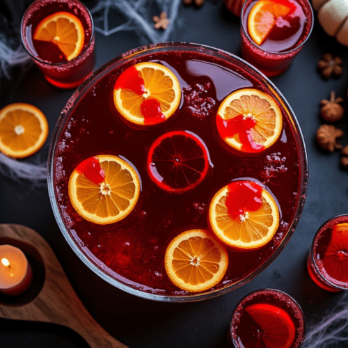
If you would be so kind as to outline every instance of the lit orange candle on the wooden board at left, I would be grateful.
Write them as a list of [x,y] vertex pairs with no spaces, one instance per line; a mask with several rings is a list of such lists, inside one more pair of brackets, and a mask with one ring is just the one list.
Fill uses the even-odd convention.
[[15,246],[0,245],[0,292],[22,294],[32,278],[33,273],[23,251]]

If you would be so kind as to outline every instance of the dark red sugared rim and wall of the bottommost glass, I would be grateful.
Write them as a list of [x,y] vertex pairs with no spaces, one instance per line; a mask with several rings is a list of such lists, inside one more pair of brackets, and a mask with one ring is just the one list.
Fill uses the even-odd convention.
[[[248,306],[254,306],[255,308],[255,305],[258,304],[260,304],[261,306],[269,306],[277,309],[278,312],[275,312],[274,315],[277,315],[278,313],[280,313],[280,311],[285,311],[285,313],[287,313],[287,315],[290,317],[290,320],[294,324],[294,341],[291,347],[301,347],[306,336],[306,318],[304,317],[303,311],[299,306],[299,303],[297,303],[290,295],[285,294],[285,292],[282,292],[280,290],[274,289],[255,290],[254,292],[246,295],[241,301],[239,301],[239,303],[237,303],[237,306],[235,306],[235,309],[232,313],[230,329],[228,331],[228,345],[231,348],[261,347],[261,345],[258,345],[262,343],[259,340],[255,343],[255,346],[253,345],[253,342],[250,340],[250,335],[248,335],[248,344],[245,342],[245,340],[244,342],[242,341],[242,330],[243,327],[245,327],[245,325],[247,324],[246,317],[244,316],[248,315],[246,314],[245,309]],[[262,317],[264,317],[264,315],[262,315]],[[250,331],[250,328],[248,329]],[[277,333],[277,331],[273,331],[272,333]],[[267,335],[267,331],[257,330],[257,327],[255,326],[255,340],[257,338],[262,338],[262,335]],[[282,333],[279,333],[279,336],[282,335]]]

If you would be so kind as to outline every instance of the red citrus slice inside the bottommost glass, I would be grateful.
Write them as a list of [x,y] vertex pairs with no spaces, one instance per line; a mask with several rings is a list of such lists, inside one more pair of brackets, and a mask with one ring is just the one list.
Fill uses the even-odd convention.
[[285,310],[269,303],[255,303],[247,306],[245,311],[253,318],[258,330],[262,331],[260,341],[264,347],[292,347],[296,331],[294,322]]

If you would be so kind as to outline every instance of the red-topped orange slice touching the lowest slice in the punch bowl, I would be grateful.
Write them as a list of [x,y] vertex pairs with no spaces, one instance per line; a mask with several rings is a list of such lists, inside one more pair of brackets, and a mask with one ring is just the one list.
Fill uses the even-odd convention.
[[279,209],[275,198],[261,184],[236,180],[212,198],[209,222],[224,244],[242,251],[252,250],[274,237]]

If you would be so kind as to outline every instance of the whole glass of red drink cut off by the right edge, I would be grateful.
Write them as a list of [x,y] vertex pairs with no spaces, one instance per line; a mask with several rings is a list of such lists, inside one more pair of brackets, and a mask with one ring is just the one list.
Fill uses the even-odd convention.
[[327,291],[348,289],[348,227],[337,230],[338,224],[347,222],[348,216],[338,216],[322,226],[308,256],[310,277]]

